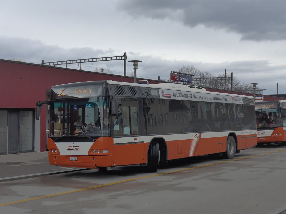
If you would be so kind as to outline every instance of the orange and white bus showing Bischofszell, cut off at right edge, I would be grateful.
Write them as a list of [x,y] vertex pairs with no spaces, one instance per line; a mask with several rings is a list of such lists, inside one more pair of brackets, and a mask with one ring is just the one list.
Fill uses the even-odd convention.
[[286,100],[255,102],[257,145],[286,142]]

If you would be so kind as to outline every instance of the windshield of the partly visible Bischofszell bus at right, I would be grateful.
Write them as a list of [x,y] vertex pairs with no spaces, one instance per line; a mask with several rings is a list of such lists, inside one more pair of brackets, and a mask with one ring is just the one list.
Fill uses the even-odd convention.
[[255,111],[257,128],[282,127],[279,108],[259,108]]

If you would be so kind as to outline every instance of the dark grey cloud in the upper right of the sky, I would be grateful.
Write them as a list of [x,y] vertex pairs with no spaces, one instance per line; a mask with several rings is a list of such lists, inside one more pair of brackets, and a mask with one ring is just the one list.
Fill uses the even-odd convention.
[[118,8],[135,18],[171,19],[191,28],[204,25],[241,35],[241,40],[286,39],[283,0],[125,0]]

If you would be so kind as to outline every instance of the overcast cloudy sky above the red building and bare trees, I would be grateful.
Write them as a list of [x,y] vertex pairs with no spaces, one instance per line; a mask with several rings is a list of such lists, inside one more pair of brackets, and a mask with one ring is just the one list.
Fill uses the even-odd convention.
[[[169,79],[183,65],[231,72],[286,94],[284,0],[0,0],[0,58],[45,62],[122,56],[137,76]],[[123,75],[123,60],[83,64]],[[68,68],[78,69],[77,64]],[[127,62],[127,74],[133,72]]]

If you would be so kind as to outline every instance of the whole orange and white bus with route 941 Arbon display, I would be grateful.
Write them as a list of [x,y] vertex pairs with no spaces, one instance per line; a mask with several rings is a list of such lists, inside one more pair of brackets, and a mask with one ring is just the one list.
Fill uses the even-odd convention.
[[[111,80],[52,86],[49,163],[105,169],[146,165],[156,172],[170,160],[223,154],[257,144],[251,96],[207,92],[174,83]],[[61,136],[56,134],[56,128]]]

